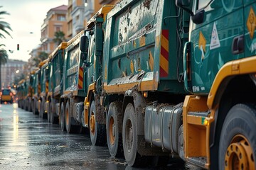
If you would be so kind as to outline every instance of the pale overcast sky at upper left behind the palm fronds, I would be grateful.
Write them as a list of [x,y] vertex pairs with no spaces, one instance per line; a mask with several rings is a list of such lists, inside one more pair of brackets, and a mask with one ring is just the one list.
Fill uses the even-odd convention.
[[[47,12],[63,4],[68,5],[68,0],[0,0],[0,11],[10,13],[2,15],[0,19],[8,22],[12,29],[9,31],[12,38],[1,32],[6,39],[0,39],[0,44],[6,45],[4,48],[9,59],[28,61],[29,52],[41,43],[41,26]],[[17,44],[20,46],[19,51],[16,50]]]

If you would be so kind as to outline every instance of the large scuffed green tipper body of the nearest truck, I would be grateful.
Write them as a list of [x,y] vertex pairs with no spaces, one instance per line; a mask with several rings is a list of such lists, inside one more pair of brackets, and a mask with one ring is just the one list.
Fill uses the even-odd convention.
[[[183,16],[178,16],[175,1],[120,1],[108,13],[105,23],[105,84],[133,83],[129,81],[130,77],[144,71],[145,76],[137,82],[158,81],[158,91],[185,93],[181,82],[181,49],[188,40],[185,33],[188,23],[186,29],[182,30],[185,25],[181,20]],[[167,42],[162,38],[163,35],[166,35]],[[167,50],[162,50],[162,44]],[[167,63],[161,60],[161,55],[165,55]],[[162,64],[166,74],[163,74]]]

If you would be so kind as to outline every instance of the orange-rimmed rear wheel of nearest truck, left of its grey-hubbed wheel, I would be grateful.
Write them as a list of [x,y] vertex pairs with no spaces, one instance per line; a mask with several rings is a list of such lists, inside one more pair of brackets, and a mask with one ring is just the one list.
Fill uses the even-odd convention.
[[112,102],[107,113],[107,147],[112,157],[120,157],[122,151],[122,103]]

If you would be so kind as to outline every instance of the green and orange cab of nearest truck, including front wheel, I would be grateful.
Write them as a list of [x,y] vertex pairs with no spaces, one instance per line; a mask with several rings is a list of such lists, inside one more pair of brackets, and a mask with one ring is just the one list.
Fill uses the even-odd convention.
[[176,5],[191,14],[183,158],[206,169],[255,169],[255,1]]

